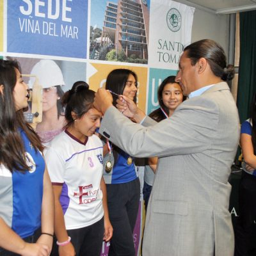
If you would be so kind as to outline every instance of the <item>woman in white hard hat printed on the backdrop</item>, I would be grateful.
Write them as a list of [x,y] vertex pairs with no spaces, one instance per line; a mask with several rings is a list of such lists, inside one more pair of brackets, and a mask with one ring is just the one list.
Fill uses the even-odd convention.
[[[31,75],[38,78],[38,83],[43,88],[42,122],[36,125],[36,132],[47,143],[63,131],[65,125],[64,111],[61,106],[61,97],[64,94],[61,86],[65,83],[60,67],[53,60],[40,60],[32,68]],[[34,81],[35,77],[31,77],[30,88]]]

